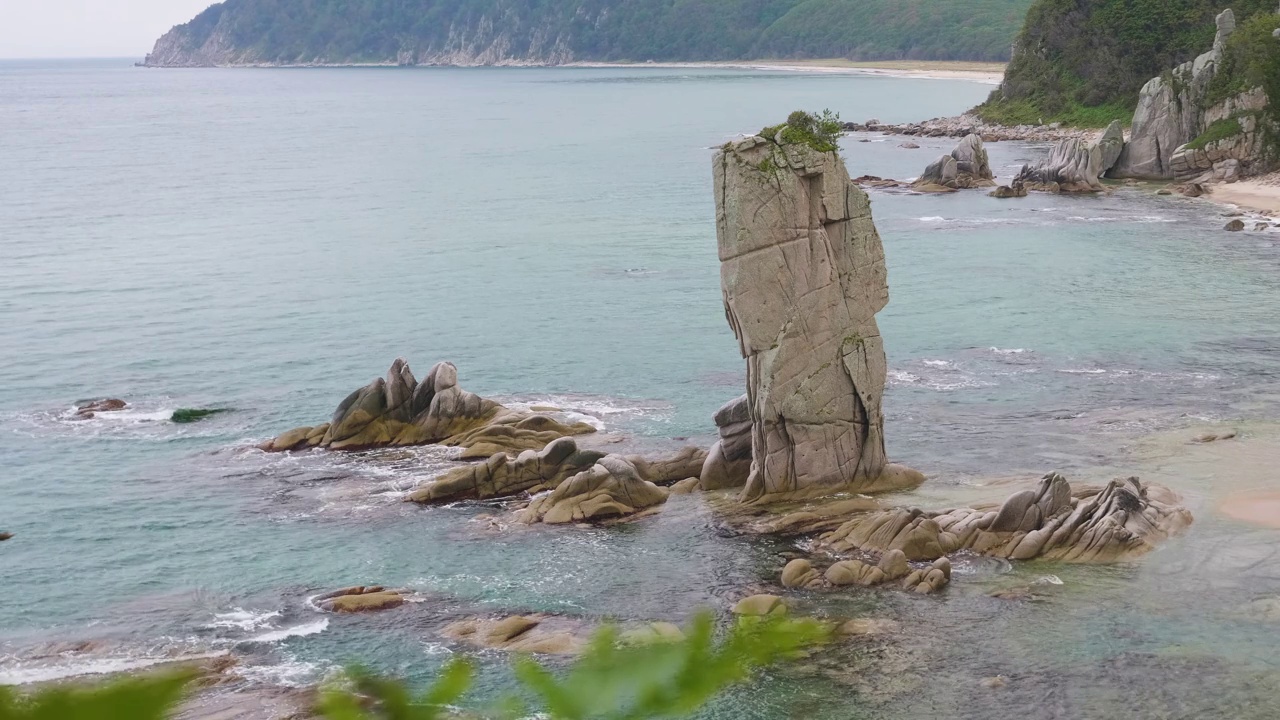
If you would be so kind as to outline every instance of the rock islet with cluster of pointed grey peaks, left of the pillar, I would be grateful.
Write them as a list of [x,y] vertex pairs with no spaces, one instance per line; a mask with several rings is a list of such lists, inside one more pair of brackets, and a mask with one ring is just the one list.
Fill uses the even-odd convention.
[[259,447],[367,450],[439,443],[467,448],[463,457],[486,457],[539,450],[557,438],[593,432],[586,423],[564,424],[463,391],[453,363],[438,363],[417,382],[408,363],[397,359],[385,378],[347,396],[328,423],[294,428]]

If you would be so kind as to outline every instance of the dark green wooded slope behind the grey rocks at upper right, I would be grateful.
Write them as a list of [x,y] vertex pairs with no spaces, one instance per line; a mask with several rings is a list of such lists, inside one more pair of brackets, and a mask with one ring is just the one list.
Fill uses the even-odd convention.
[[1128,122],[1147,81],[1210,50],[1226,8],[1245,20],[1276,0],[1036,0],[1005,82],[977,111],[1006,124]]

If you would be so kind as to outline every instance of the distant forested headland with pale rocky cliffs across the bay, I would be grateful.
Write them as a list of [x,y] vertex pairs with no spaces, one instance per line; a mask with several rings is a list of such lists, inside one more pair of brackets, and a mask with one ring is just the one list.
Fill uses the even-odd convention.
[[151,64],[1004,60],[1032,0],[227,0]]

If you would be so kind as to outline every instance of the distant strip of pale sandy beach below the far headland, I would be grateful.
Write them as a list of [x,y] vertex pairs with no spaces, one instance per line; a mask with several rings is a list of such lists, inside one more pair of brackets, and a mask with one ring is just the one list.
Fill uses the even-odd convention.
[[727,60],[719,63],[570,63],[576,68],[726,68],[741,70],[791,70],[808,73],[847,73],[922,79],[968,79],[1000,85],[1004,63],[881,60],[855,61],[844,58],[822,60]]

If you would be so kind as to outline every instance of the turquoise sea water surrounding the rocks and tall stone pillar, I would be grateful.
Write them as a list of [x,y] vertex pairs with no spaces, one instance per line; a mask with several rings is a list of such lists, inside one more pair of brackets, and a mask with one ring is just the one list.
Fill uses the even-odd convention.
[[[956,81],[689,69],[145,72],[0,64],[0,682],[234,650],[269,682],[365,660],[413,678],[476,611],[622,619],[723,609],[782,546],[696,498],[614,529],[489,536],[492,509],[407,507],[431,448],[271,456],[406,356],[465,387],[553,401],[663,448],[705,442],[741,392],[721,307],[710,150],[796,108],[884,122],[956,113]],[[868,140],[869,142],[859,142]],[[951,141],[849,137],[855,174],[909,178]],[[1009,176],[1044,147],[995,145]],[[709,717],[1272,717],[1276,533],[1215,516],[1265,487],[1152,433],[1277,418],[1277,234],[1220,210],[1106,197],[873,193],[890,264],[891,454],[916,502],[993,475],[1156,473],[1198,521],[1124,568],[975,564],[942,598],[850,593],[892,642],[731,693]],[[69,421],[88,397],[128,419]],[[229,407],[198,424],[174,407]],[[1268,434],[1271,433],[1271,434]],[[1158,436],[1165,437],[1165,436]],[[1180,447],[1180,446],[1179,446]],[[1180,457],[1180,456],[1179,456]],[[1231,461],[1231,457],[1221,460]],[[997,487],[984,497],[1002,497]],[[969,497],[969,496],[965,496]],[[1043,580],[1034,603],[986,597]],[[425,602],[328,618],[353,583]],[[82,652],[67,643],[95,641]],[[503,662],[485,657],[489,688]],[[978,680],[1002,674],[1000,693]],[[1187,682],[1207,683],[1206,694]]]

